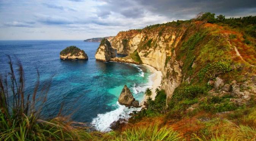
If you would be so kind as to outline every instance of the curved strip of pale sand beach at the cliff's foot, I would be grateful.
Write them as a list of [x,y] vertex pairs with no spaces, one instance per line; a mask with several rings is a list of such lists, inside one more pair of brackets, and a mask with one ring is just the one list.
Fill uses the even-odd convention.
[[[150,96],[152,100],[155,99],[156,97],[156,88],[159,88],[161,86],[161,80],[162,80],[162,72],[156,70],[154,67],[151,67],[150,65],[143,64],[143,66],[147,67],[153,74],[154,76],[151,78],[151,81],[153,82],[153,85],[151,87],[152,95]],[[146,101],[148,96],[144,96],[144,99],[142,102],[140,102],[140,105],[144,107],[144,101]]]

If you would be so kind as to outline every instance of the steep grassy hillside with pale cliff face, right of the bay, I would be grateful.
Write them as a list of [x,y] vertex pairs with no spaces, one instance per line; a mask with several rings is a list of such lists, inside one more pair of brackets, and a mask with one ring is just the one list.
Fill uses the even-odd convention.
[[225,140],[235,136],[224,135],[227,129],[219,127],[222,124],[236,132],[256,131],[256,16],[221,16],[205,13],[197,19],[118,33],[112,47],[129,55],[113,61],[148,64],[163,74],[159,98],[148,99],[147,109],[130,119],[134,125],[129,128],[158,123],[173,127],[184,138],[203,135],[205,140],[221,131]]

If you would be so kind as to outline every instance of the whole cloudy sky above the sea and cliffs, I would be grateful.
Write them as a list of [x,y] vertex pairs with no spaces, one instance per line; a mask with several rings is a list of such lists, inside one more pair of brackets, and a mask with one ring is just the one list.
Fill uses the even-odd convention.
[[256,15],[255,0],[0,0],[0,40],[84,40],[194,18]]

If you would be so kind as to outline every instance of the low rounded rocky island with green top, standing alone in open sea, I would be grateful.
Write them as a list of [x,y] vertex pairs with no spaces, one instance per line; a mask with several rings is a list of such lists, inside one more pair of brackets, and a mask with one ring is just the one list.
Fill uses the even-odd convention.
[[81,50],[80,48],[76,46],[68,46],[64,50],[60,51],[60,59],[63,60],[88,60],[87,54],[84,52],[84,50]]

